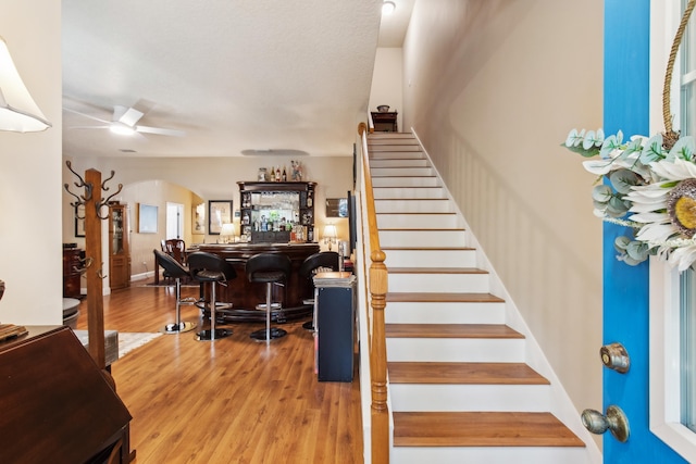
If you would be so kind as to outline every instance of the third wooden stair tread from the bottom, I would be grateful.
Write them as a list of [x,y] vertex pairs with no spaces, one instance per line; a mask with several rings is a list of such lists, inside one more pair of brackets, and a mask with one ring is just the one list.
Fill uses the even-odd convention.
[[387,338],[524,338],[502,324],[385,324],[385,335]]

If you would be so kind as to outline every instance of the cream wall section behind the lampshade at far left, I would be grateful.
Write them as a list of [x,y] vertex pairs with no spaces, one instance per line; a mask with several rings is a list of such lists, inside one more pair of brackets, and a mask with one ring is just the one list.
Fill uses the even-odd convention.
[[0,131],[0,322],[61,324],[61,2],[0,0],[0,35],[53,125]]

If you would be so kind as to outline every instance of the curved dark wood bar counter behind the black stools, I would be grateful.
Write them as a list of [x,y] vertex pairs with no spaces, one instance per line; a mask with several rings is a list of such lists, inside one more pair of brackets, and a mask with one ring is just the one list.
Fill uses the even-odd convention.
[[[293,271],[284,287],[273,286],[273,302],[281,302],[282,309],[272,311],[273,319],[282,322],[311,315],[312,308],[302,301],[313,298],[311,279],[302,278],[299,268],[307,256],[319,252],[318,243],[207,243],[192,247],[188,253],[206,251],[217,254],[229,262],[237,272],[237,278],[227,286],[217,286],[216,299],[233,303],[233,311],[225,315],[229,321],[264,321],[265,311],[258,311],[257,304],[265,303],[265,284],[251,284],[247,279],[245,265],[247,260],[259,253],[283,253],[291,263]],[[203,286],[203,294],[209,301],[209,285]]]

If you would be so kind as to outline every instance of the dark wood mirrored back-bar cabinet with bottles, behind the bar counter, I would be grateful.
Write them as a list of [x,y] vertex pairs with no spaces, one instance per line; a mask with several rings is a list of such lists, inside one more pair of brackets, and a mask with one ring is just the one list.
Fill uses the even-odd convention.
[[[314,183],[239,181],[243,241],[314,241]],[[303,237],[297,237],[301,228]],[[295,236],[294,236],[295,233]],[[246,240],[245,240],[246,239]]]

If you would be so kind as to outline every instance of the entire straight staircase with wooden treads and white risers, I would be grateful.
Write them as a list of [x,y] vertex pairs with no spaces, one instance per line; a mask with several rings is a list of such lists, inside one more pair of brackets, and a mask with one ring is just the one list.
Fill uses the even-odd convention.
[[387,369],[393,463],[588,463],[552,414],[551,385],[525,364],[525,337],[430,160],[411,134],[368,139],[389,271]]

